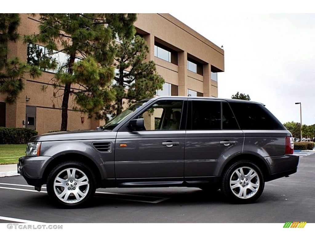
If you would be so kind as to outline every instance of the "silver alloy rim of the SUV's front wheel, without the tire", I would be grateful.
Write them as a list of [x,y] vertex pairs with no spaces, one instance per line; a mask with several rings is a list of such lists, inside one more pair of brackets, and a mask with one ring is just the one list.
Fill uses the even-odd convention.
[[61,201],[70,204],[83,200],[89,186],[86,174],[76,168],[62,170],[54,179],[54,193]]

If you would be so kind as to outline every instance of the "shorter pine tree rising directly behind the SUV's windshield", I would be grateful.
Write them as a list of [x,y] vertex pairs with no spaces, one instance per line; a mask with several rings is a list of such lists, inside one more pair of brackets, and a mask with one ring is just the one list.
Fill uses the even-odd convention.
[[[119,38],[119,37],[117,37]],[[162,89],[164,79],[157,74],[153,61],[146,61],[149,48],[146,41],[135,36],[132,39],[119,38],[115,43],[115,67],[113,89],[116,93],[114,104],[107,106],[105,113],[120,114],[123,107],[144,98],[153,97]]]

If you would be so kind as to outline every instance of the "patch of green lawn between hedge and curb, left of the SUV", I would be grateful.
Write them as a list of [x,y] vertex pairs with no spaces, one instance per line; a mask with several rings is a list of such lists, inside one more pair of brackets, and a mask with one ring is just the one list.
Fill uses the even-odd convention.
[[25,156],[26,144],[1,144],[0,165],[16,164],[21,156]]

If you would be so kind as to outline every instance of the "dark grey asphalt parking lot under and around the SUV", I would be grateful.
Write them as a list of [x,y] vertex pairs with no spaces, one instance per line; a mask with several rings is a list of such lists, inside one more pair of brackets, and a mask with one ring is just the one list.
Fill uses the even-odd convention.
[[267,182],[255,204],[233,205],[220,191],[199,188],[97,189],[92,205],[58,209],[45,188],[21,176],[0,178],[0,223],[285,223],[315,222],[315,154],[303,154],[297,173]]

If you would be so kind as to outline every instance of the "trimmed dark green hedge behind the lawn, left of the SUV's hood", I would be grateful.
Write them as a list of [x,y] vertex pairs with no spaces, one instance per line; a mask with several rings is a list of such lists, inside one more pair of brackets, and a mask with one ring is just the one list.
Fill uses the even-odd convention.
[[0,127],[0,144],[24,144],[37,134],[32,129]]

